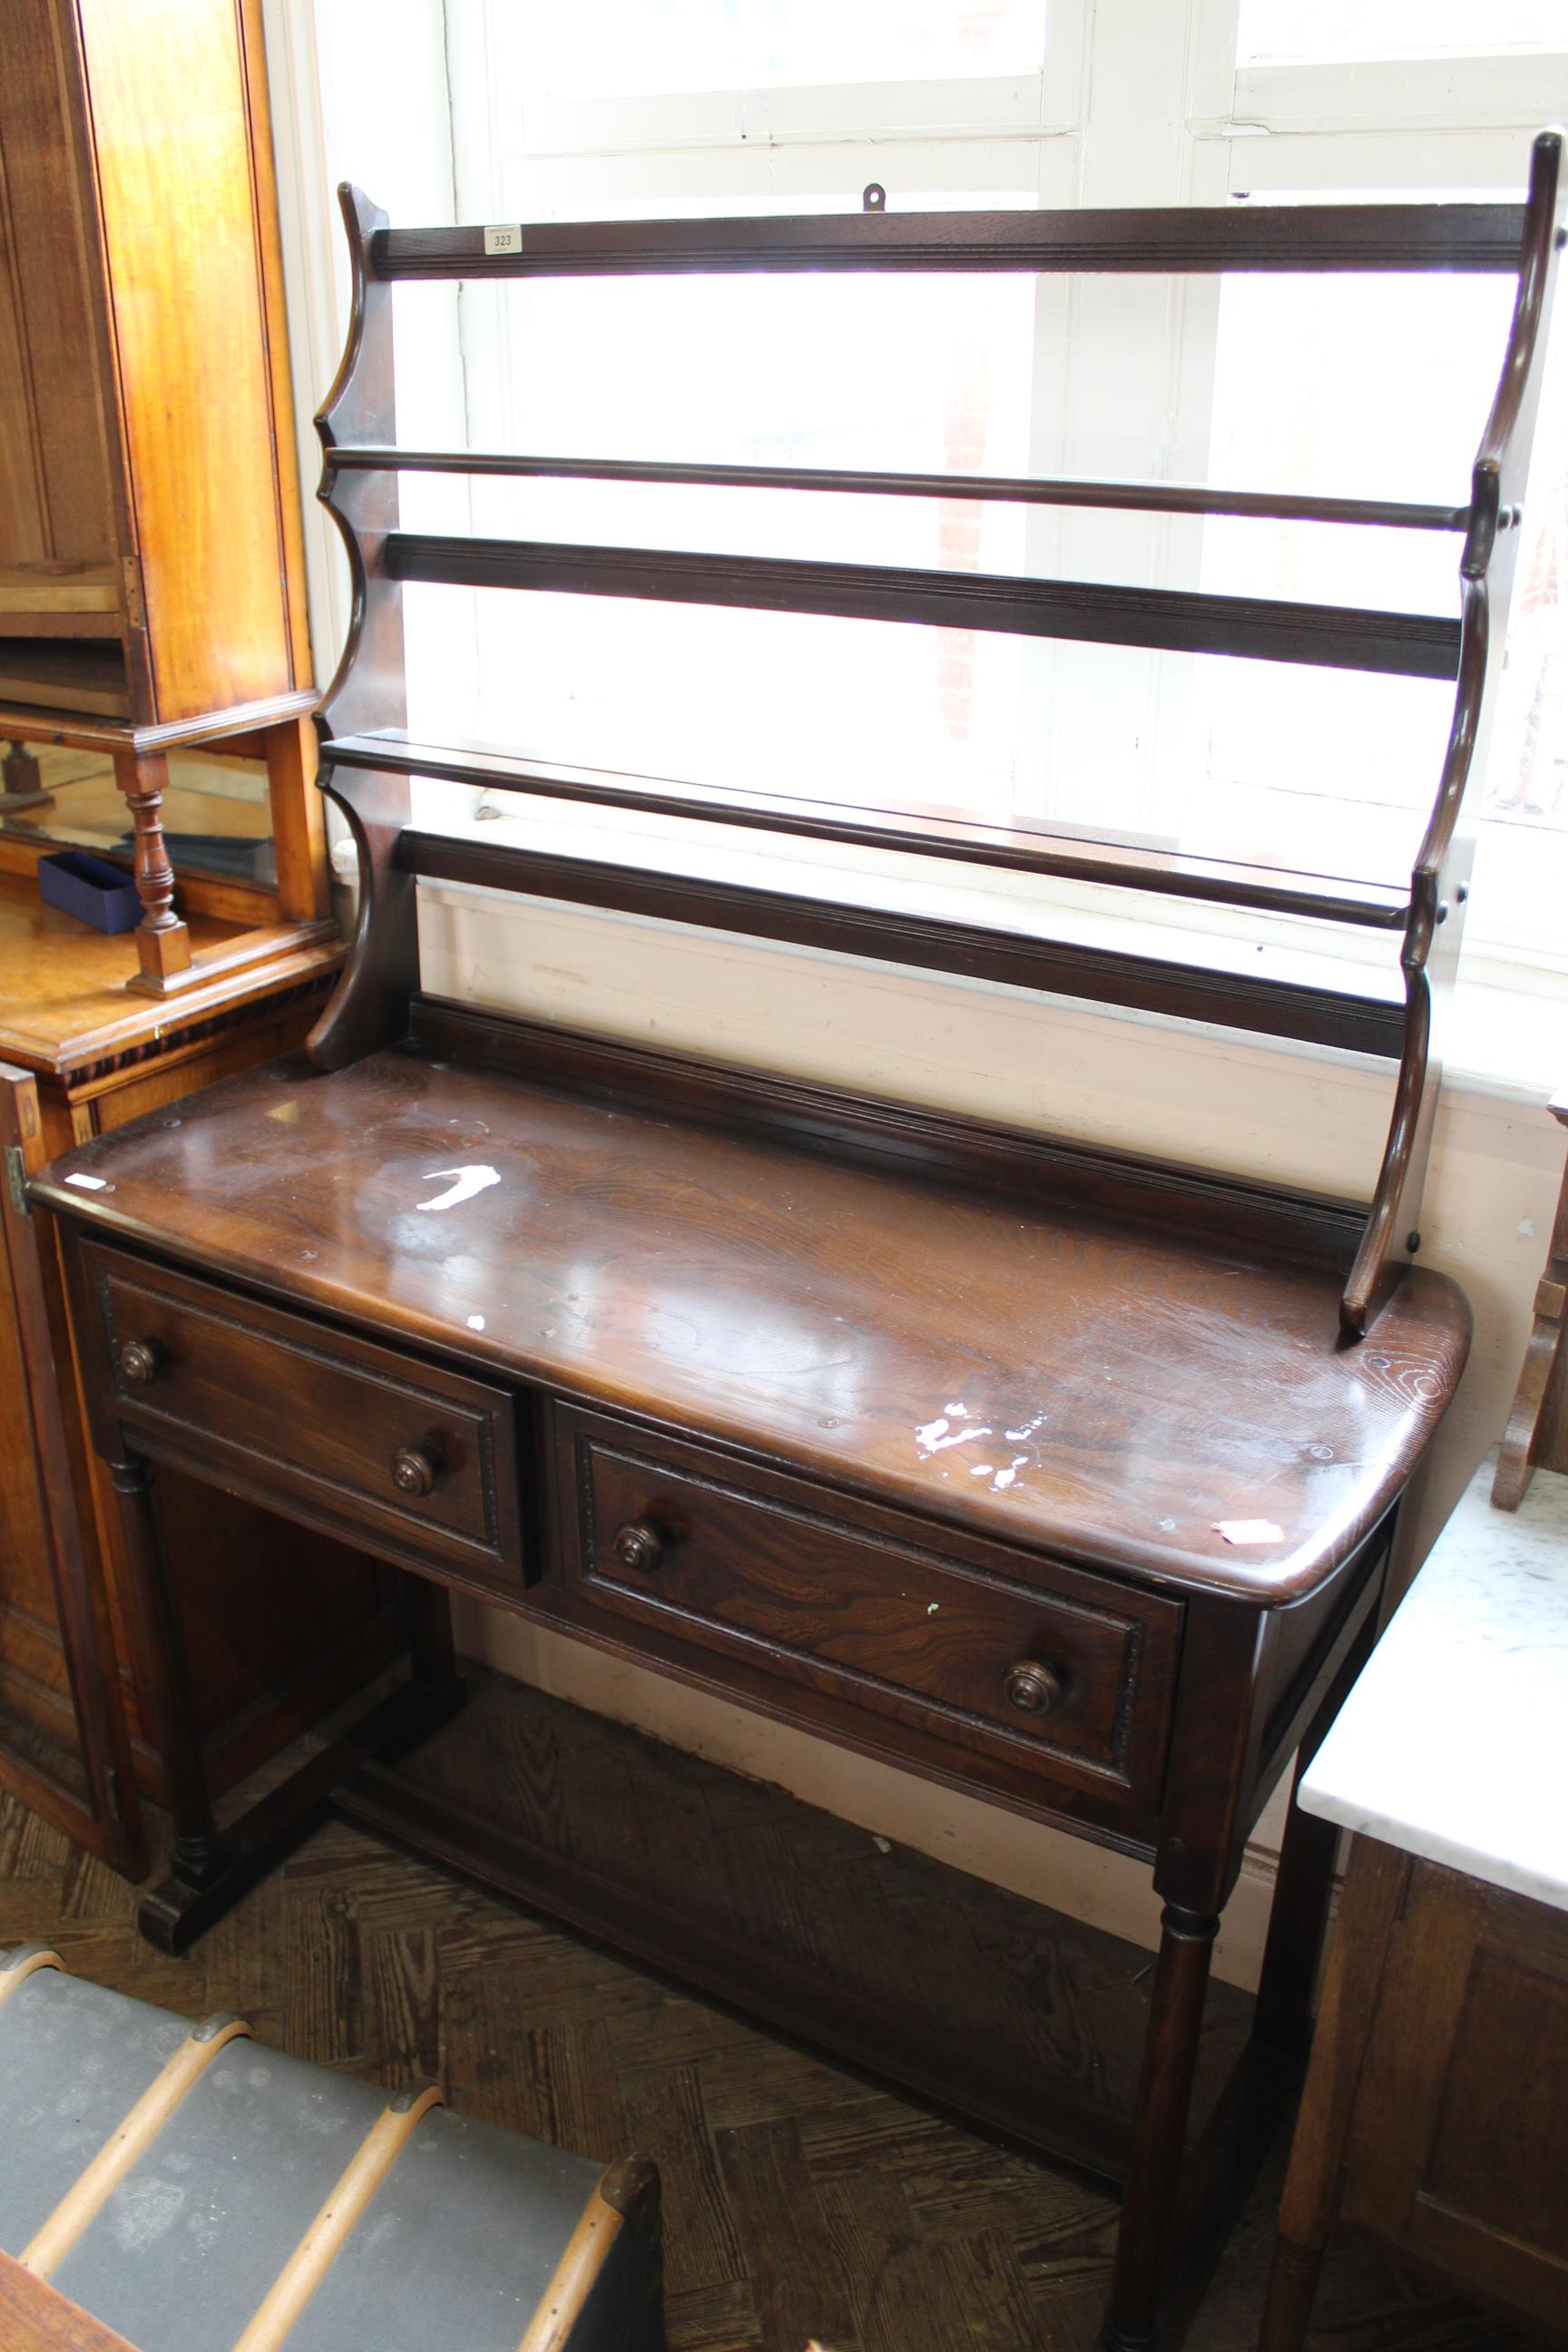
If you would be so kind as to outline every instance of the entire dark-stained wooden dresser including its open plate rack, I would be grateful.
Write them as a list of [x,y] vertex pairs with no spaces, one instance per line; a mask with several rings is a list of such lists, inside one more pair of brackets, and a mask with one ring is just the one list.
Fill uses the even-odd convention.
[[[1307,2032],[1333,1830],[1291,1811],[1255,2030],[1194,2159],[1208,1964],[1241,1851],[1375,1628],[1394,1515],[1469,1310],[1413,1265],[1458,953],[1458,814],[1500,670],[1561,139],[1512,205],[865,216],[393,230],[343,191],[353,325],[317,419],[355,628],[322,713],[360,851],[350,974],[310,1058],[136,1122],[33,1185],[61,1218],[94,1442],[122,1501],[174,1783],[179,1947],[357,1759],[461,1705],[447,1588],[1152,1865],[1164,1931],[1105,2340],[1175,2340],[1246,2150]],[[395,442],[400,278],[682,270],[1378,270],[1516,278],[1465,508],[1173,485],[811,475]],[[1460,619],[1084,581],[435,539],[402,470],[985,494],[1462,536]],[[541,767],[404,727],[402,586],[489,586],[961,626],[1446,677],[1408,882],[1338,884],[1027,828]],[[677,809],[1077,882],[1314,915],[1399,941],[1368,993],[919,924],[750,884],[421,833],[411,779]],[[870,786],[867,786],[870,790]],[[1394,1068],[1371,1200],[1025,1136],[421,993],[416,880],[954,969]],[[252,1813],[214,1825],[158,1482],[205,1479],[407,1571],[411,1675]],[[425,1809],[425,1818],[430,1811]],[[400,1832],[402,1835],[402,1832]],[[418,1844],[418,1830],[409,1830]],[[433,1842],[440,1851],[440,1839]],[[1077,2105],[1074,2105],[1077,2100]],[[1084,2161],[1077,2086],[1039,2143]],[[1213,2159],[1213,2161],[1211,2161]],[[1175,2230],[1178,2185],[1194,2211]],[[1182,2263],[1166,2260],[1178,2241]]]

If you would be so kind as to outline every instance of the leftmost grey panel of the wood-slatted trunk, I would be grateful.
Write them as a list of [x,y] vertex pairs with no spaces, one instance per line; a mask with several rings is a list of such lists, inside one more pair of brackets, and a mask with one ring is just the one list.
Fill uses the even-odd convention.
[[186,2018],[35,1969],[0,2004],[0,2249],[19,2256],[190,2034]]

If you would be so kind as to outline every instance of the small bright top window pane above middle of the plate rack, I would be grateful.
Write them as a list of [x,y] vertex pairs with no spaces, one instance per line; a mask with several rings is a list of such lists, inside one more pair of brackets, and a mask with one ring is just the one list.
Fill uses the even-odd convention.
[[1039,73],[1044,0],[599,0],[520,12],[529,99]]

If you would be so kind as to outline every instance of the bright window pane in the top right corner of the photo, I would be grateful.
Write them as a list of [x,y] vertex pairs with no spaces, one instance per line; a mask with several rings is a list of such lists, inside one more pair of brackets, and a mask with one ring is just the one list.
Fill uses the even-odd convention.
[[1241,66],[1568,47],[1563,0],[1241,0]]

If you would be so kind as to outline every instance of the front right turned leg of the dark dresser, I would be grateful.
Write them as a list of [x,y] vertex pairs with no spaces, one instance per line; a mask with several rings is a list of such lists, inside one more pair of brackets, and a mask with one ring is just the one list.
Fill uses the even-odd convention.
[[1143,2046],[1133,2164],[1121,2197],[1117,2267],[1105,2310],[1107,2352],[1143,2352],[1154,2343],[1159,2281],[1171,2230],[1171,2206],[1187,2140],[1192,2074],[1208,1992],[1208,1962],[1218,1933],[1213,1912],[1161,1912],[1154,2006]]

